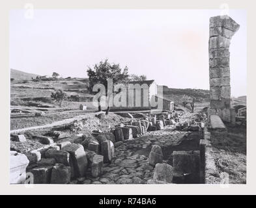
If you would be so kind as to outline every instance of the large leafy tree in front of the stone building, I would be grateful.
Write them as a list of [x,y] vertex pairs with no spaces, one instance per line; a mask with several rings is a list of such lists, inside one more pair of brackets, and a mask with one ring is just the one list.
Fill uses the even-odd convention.
[[[105,86],[105,96],[107,96],[107,79],[113,79],[113,85],[117,83],[125,83],[128,80],[128,68],[126,66],[124,69],[121,69],[119,64],[110,64],[106,59],[99,64],[95,64],[94,68],[88,67],[87,75],[89,77],[89,92],[94,93],[92,92],[93,86],[102,84]],[[101,111],[100,98],[101,96],[98,99],[98,111]],[[108,106],[106,114],[108,114],[109,109],[110,107]]]

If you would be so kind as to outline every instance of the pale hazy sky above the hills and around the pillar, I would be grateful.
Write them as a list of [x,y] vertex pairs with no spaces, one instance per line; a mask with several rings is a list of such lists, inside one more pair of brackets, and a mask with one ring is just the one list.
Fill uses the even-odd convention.
[[[209,18],[220,10],[25,10],[10,12],[10,68],[87,77],[109,59],[171,88],[209,88]],[[231,94],[246,95],[246,11],[229,10]]]

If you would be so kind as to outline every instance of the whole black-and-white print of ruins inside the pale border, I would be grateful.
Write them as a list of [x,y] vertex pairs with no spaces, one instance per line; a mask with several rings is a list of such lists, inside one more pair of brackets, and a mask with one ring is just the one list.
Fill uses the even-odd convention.
[[9,18],[10,184],[246,184],[246,11]]

